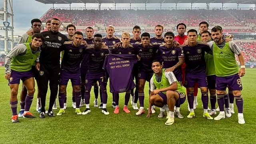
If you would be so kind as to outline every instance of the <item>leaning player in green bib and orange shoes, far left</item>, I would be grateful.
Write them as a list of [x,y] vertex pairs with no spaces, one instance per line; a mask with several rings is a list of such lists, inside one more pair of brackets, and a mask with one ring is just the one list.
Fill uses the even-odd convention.
[[[40,46],[44,37],[35,33],[32,36],[31,43],[16,45],[6,56],[5,61],[5,78],[9,80],[11,89],[10,107],[12,109],[12,122],[19,122],[17,114],[17,94],[20,80],[24,83],[28,90],[25,99],[24,118],[36,118],[30,112],[30,106],[35,93],[35,80],[32,69],[32,64],[36,61],[40,54]],[[36,69],[39,71],[40,64],[36,63]]]

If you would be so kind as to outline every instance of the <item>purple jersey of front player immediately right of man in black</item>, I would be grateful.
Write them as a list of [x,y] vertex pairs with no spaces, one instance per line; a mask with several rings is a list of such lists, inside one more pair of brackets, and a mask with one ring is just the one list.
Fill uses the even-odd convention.
[[73,45],[73,41],[64,42],[64,55],[61,62],[61,70],[68,73],[80,72],[80,64],[84,55],[84,49],[86,46],[80,44],[76,47]]

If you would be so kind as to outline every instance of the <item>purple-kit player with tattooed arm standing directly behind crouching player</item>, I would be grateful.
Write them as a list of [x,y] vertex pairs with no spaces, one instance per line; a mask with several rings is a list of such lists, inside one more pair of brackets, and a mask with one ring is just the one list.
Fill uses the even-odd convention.
[[[184,62],[184,54],[183,50],[180,47],[174,46],[174,33],[173,32],[166,32],[164,34],[165,44],[159,46],[158,52],[162,58],[163,68],[165,68],[166,72],[173,72],[177,81],[178,85],[182,87],[182,72],[181,66]],[[176,116],[178,118],[183,118],[180,114],[180,104],[176,103]],[[168,112],[168,111],[167,111]],[[169,114],[167,113],[167,116]],[[164,117],[164,111],[160,111],[158,115],[159,118]]]

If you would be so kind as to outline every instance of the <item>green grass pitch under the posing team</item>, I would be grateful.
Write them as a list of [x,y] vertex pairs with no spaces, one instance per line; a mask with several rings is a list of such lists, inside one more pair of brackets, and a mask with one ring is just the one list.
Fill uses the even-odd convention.
[[[111,107],[112,94],[108,92],[107,109],[109,115],[104,115],[99,108],[93,107],[94,94],[91,93],[91,113],[88,115],[76,115],[71,108],[72,88],[69,84],[68,108],[62,116],[45,119],[39,118],[36,111],[36,98],[34,98],[30,112],[37,118],[20,118],[20,122],[11,122],[12,112],[9,98],[10,88],[8,81],[4,79],[4,67],[0,67],[0,144],[255,144],[256,143],[256,68],[246,69],[246,76],[242,78],[244,90],[244,119],[245,124],[238,124],[237,108],[231,118],[220,121],[203,118],[202,101],[198,97],[198,109],[196,117],[186,118],[189,114],[188,102],[181,105],[180,112],[183,119],[175,118],[172,126],[166,126],[166,118],[158,118],[159,108],[150,118],[145,114],[136,116],[137,110],[133,110],[129,102],[130,114],[122,111],[124,105],[124,93],[120,94],[120,113],[114,114]],[[21,87],[21,86],[20,86]],[[109,90],[108,90],[109,91]],[[148,92],[148,86],[145,94]],[[48,106],[50,90],[47,94]],[[35,93],[36,96],[36,93]],[[19,100],[19,94],[18,94]],[[148,106],[148,95],[145,96],[145,107]],[[46,106],[46,107],[47,107]],[[139,106],[139,105],[138,105]],[[209,101],[210,106],[210,101]],[[59,108],[59,106],[58,106]],[[18,111],[20,105],[18,104]],[[59,109],[58,109],[59,110]],[[58,112],[55,110],[55,114]],[[85,110],[85,106],[81,111]],[[217,115],[216,115],[217,116]],[[214,117],[216,117],[214,116]]]

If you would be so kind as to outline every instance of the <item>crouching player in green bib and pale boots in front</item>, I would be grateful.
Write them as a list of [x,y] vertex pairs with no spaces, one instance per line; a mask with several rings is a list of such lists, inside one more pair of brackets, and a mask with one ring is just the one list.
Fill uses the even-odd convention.
[[174,123],[174,106],[185,102],[186,91],[177,81],[173,72],[166,72],[158,60],[152,62],[152,70],[154,74],[150,80],[151,92],[147,117],[149,118],[152,114],[151,106],[158,106],[167,112],[170,111],[170,117],[165,124],[172,125]]

